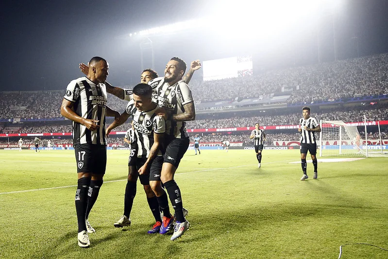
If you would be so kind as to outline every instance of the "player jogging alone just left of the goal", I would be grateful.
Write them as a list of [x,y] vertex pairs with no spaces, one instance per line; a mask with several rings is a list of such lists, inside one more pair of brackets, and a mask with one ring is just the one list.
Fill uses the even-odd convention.
[[308,179],[307,176],[307,151],[310,152],[311,159],[314,165],[314,179],[318,178],[318,161],[317,161],[317,141],[315,139],[315,132],[321,132],[321,126],[318,121],[310,117],[310,107],[304,106],[302,108],[303,118],[299,120],[298,131],[301,133],[301,160],[302,160],[302,181]]

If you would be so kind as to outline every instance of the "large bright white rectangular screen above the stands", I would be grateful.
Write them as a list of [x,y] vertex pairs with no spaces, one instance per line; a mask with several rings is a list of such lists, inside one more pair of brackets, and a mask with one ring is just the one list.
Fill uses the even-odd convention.
[[252,56],[203,61],[203,81],[252,75]]

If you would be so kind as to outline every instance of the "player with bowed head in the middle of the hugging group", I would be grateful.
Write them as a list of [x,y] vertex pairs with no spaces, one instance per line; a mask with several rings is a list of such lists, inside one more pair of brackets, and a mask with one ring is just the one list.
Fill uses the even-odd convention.
[[114,121],[106,130],[110,131],[132,116],[135,132],[135,141],[131,145],[131,153],[128,159],[128,182],[125,189],[124,214],[114,225],[116,227],[129,226],[131,224],[130,213],[136,194],[137,178],[143,185],[147,201],[155,218],[156,223],[149,234],[166,234],[159,213],[159,206],[163,215],[171,217],[169,201],[166,192],[161,186],[160,171],[163,163],[161,149],[163,149],[163,137],[166,131],[165,120],[154,112],[159,108],[152,103],[152,88],[147,84],[140,83],[134,87],[132,100],[126,110],[121,114],[118,121]]

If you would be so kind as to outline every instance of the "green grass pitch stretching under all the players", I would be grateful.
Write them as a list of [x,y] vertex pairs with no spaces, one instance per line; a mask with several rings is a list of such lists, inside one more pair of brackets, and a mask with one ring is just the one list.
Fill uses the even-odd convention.
[[[142,186],[125,231],[127,151],[108,151],[107,172],[89,221],[88,249],[77,245],[74,151],[0,151],[0,258],[338,258],[339,246],[388,248],[388,159],[319,163],[300,181],[299,150],[187,151],[177,171],[190,229],[177,241],[149,235],[154,220]],[[318,158],[319,160],[319,158]],[[111,181],[111,182],[110,182]],[[73,186],[4,194],[20,190]],[[172,208],[171,208],[172,211]],[[342,259],[387,258],[347,245]]]

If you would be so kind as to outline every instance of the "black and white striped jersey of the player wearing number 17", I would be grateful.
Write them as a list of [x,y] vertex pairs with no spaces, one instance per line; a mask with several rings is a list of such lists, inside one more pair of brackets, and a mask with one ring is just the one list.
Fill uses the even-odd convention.
[[84,125],[73,121],[73,144],[106,145],[105,111],[106,88],[99,83],[94,84],[87,77],[80,77],[67,85],[64,98],[74,103],[74,112],[85,119],[99,121],[100,128],[90,131]]

